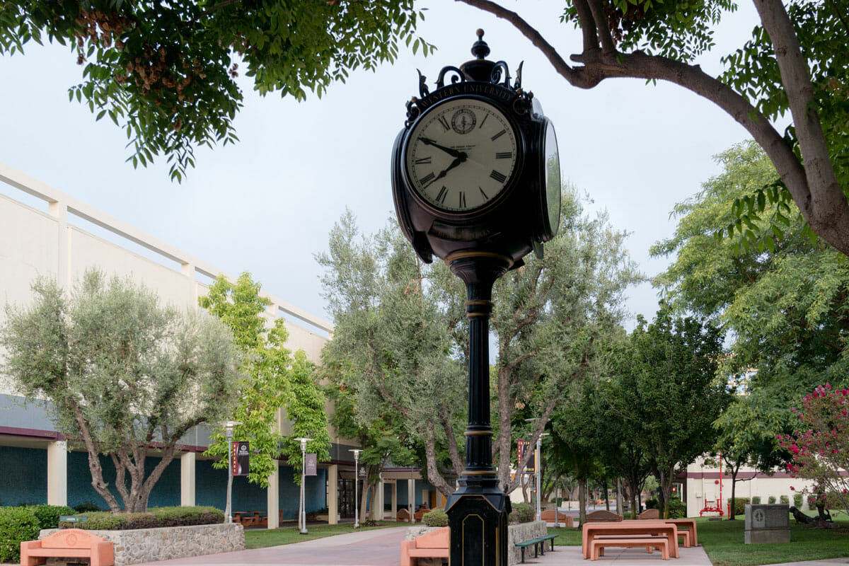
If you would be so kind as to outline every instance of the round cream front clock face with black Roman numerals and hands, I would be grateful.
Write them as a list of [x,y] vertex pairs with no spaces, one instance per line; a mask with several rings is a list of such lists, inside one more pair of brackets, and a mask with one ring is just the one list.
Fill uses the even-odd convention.
[[503,113],[475,98],[458,98],[425,113],[410,132],[404,162],[421,199],[463,214],[480,209],[509,185],[518,140]]

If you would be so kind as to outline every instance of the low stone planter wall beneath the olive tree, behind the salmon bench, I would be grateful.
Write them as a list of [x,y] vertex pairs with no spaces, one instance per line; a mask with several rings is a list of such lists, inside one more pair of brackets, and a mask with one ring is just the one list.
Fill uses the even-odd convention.
[[[42,530],[38,538],[56,531]],[[115,566],[245,550],[245,530],[239,523],[87,532],[115,543]]]

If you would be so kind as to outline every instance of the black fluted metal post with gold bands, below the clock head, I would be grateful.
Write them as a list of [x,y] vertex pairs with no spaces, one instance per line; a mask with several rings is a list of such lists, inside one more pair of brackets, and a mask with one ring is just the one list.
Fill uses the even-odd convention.
[[446,257],[451,271],[466,283],[469,318],[469,424],[466,463],[459,488],[446,503],[451,528],[451,564],[507,566],[508,497],[492,468],[489,412],[489,318],[492,285],[513,261],[504,255],[461,250]]

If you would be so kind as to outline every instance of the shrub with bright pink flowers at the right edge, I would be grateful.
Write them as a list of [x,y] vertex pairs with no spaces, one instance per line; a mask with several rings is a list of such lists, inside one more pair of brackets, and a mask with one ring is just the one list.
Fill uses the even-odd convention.
[[820,385],[802,401],[800,427],[778,434],[793,459],[787,470],[794,478],[812,479],[811,506],[839,507],[849,513],[849,389]]

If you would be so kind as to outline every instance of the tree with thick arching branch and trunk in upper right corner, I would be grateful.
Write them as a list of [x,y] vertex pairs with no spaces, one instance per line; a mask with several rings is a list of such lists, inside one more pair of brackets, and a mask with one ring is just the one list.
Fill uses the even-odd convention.
[[[745,127],[777,171],[774,182],[744,196],[748,216],[766,211],[767,199],[780,210],[792,197],[813,232],[849,254],[845,0],[791,0],[786,8],[779,0],[753,0],[761,25],[722,59],[719,77],[694,59],[712,47],[722,13],[736,8],[730,0],[569,0],[561,19],[582,31],[582,51],[571,55],[575,66],[520,14],[491,0],[460,1],[509,21],[574,87],[631,77],[669,81],[711,100]],[[783,136],[770,120],[784,115],[792,125]],[[741,225],[745,239],[757,239],[746,232],[742,212],[728,235]]]

